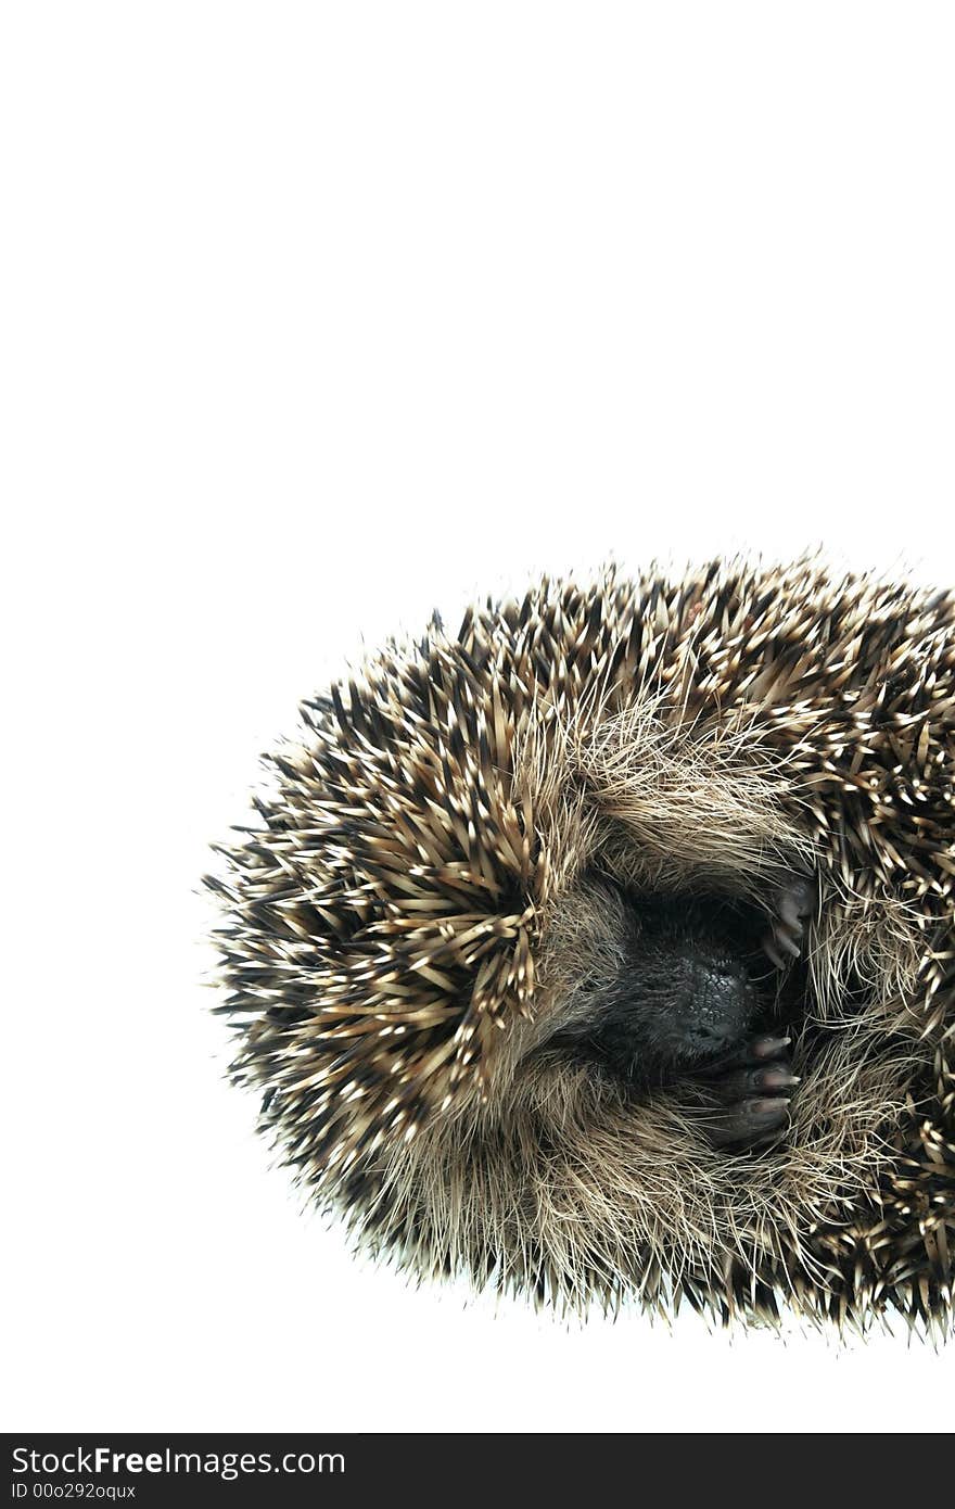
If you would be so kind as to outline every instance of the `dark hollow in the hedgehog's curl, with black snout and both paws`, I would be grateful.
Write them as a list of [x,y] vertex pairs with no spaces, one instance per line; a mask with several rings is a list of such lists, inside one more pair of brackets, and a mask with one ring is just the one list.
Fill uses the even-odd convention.
[[785,1029],[806,994],[791,966],[815,905],[810,881],[795,875],[777,889],[769,924],[726,896],[634,896],[606,877],[582,889],[611,946],[551,1023],[531,1073],[534,1056],[557,1053],[637,1097],[699,1076],[720,1102],[708,1121],[714,1147],[757,1147],[783,1132],[798,1083]]

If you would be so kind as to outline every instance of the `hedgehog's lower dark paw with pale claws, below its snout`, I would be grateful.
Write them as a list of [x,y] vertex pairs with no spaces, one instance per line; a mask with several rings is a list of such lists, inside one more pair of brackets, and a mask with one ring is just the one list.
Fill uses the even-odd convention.
[[735,1064],[718,1073],[714,1088],[723,1105],[706,1123],[714,1147],[759,1147],[786,1130],[789,1093],[800,1083],[788,1047],[789,1038],[756,1037]]

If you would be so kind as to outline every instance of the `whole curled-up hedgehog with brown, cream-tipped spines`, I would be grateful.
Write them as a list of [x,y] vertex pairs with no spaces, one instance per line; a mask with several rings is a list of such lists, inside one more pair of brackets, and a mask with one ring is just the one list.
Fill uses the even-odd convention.
[[321,1206],[560,1311],[949,1332],[950,595],[543,581],[302,720],[208,884]]

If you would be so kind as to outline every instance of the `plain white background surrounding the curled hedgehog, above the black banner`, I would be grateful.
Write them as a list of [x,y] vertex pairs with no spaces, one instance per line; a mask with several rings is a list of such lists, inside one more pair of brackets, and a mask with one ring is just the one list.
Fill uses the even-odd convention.
[[949,5],[8,3],[8,1429],[947,1429],[955,1352],[567,1329],[299,1213],[207,844],[533,570],[955,578]]

